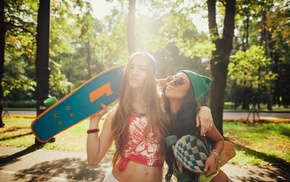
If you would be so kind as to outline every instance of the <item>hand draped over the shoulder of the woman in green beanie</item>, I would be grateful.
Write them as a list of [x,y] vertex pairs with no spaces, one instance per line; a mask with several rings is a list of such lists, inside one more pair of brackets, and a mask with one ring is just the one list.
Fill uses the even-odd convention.
[[211,110],[206,106],[201,106],[199,112],[196,115],[196,127],[199,126],[201,127],[201,136],[204,136],[204,134],[210,131],[214,126]]

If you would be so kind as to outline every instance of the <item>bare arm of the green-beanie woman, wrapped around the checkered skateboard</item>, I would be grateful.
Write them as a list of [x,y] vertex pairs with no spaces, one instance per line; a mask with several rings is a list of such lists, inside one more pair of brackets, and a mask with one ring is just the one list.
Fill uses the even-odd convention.
[[205,176],[210,176],[219,170],[219,157],[224,148],[224,139],[215,126],[207,132],[206,136],[210,139],[213,145],[212,151],[206,160],[204,168]]

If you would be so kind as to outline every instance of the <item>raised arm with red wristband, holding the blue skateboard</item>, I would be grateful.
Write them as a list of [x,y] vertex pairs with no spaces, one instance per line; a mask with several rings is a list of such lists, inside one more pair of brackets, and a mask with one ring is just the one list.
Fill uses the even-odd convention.
[[[103,110],[90,118],[88,131],[97,129],[101,117],[107,112],[107,107],[103,104],[101,106]],[[113,133],[111,130],[113,115],[114,112],[108,113],[100,135],[99,132],[88,133],[87,160],[90,166],[99,164],[113,143]]]

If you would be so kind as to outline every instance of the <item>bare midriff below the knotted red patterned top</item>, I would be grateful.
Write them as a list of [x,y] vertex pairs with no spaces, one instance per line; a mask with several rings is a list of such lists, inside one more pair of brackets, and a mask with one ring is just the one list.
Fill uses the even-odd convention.
[[[121,162],[121,161],[120,161]],[[134,161],[128,161],[126,168],[118,169],[120,162],[113,168],[114,177],[120,182],[161,182],[163,166],[152,167]]]

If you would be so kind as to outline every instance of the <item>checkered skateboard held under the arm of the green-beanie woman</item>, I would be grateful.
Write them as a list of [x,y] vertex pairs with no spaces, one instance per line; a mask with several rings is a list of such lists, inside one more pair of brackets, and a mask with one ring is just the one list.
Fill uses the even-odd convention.
[[[206,159],[211,152],[211,145],[204,136],[185,135],[177,139],[176,135],[168,136],[165,139],[167,147],[172,147],[176,158],[175,168],[178,171],[178,182],[192,181],[187,169],[195,173],[203,173]],[[232,143],[225,141],[224,149],[220,154],[219,167],[227,163],[236,155]]]

